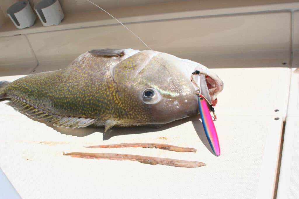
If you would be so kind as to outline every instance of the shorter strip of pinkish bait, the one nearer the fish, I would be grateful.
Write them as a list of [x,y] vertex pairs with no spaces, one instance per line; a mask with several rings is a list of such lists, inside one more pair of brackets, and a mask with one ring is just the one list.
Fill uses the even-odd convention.
[[185,148],[169,144],[155,144],[155,143],[121,143],[121,144],[107,144],[97,146],[85,146],[86,148],[123,148],[123,147],[143,147],[143,148],[158,148],[176,152],[196,152],[194,148]]

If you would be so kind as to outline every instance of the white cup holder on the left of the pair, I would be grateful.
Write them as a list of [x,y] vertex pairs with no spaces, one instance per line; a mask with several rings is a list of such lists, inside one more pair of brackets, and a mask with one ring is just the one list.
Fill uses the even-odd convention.
[[16,28],[22,29],[34,24],[36,16],[27,0],[19,1],[7,9],[7,14]]

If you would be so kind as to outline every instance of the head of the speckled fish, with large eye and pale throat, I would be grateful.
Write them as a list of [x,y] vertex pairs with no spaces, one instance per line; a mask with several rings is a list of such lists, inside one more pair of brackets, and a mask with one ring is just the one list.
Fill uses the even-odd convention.
[[[141,51],[114,67],[113,80],[119,95],[127,96],[123,107],[135,115],[132,123],[166,124],[199,114],[198,88],[191,81],[197,69],[207,70],[167,53]],[[211,94],[215,101],[215,93]]]

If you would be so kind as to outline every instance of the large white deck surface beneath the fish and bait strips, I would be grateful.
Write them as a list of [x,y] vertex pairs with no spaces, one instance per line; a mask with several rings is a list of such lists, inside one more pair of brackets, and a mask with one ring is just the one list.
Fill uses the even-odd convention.
[[[288,68],[213,71],[225,86],[215,107],[220,157],[210,152],[199,117],[160,129],[113,129],[103,138],[103,128],[56,128],[33,121],[2,101],[0,167],[22,198],[272,198],[292,71]],[[8,81],[17,78],[0,77]],[[274,120],[276,117],[280,119]],[[125,142],[194,147],[197,152],[83,148]],[[152,166],[132,161],[71,158],[62,152],[149,155],[202,161],[207,166]]]

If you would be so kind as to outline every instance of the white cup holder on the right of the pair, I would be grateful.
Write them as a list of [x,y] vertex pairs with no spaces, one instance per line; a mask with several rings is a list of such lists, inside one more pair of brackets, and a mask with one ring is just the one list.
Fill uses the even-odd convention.
[[64,18],[64,14],[58,0],[42,0],[34,10],[44,26],[58,25]]

